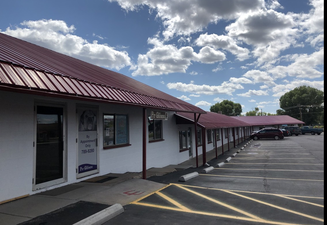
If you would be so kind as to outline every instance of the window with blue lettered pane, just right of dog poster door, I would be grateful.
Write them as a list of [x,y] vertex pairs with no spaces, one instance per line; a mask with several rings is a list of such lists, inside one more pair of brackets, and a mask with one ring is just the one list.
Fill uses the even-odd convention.
[[128,116],[118,114],[103,115],[103,146],[129,143]]

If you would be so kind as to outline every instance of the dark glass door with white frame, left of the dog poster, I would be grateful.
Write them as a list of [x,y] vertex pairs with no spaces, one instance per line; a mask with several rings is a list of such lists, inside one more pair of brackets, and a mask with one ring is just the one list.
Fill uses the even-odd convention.
[[36,105],[33,189],[62,183],[63,106]]

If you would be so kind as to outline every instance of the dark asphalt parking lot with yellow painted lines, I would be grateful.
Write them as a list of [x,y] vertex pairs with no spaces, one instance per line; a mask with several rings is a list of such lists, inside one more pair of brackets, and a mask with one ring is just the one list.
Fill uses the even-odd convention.
[[[323,224],[323,148],[312,151],[296,139],[321,144],[323,136],[294,137],[249,141],[225,162],[240,147],[232,148],[208,162],[208,173],[199,167],[150,177],[166,186],[105,224]],[[179,181],[192,172],[199,175]]]

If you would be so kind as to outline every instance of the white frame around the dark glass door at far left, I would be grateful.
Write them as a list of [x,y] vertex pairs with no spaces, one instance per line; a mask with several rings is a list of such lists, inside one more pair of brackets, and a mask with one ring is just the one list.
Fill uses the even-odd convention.
[[[49,106],[49,107],[61,107],[62,108],[62,178],[44,182],[41,184],[35,184],[36,182],[36,137],[37,137],[37,106]],[[67,176],[67,143],[66,143],[66,104],[65,103],[51,103],[47,102],[34,102],[34,140],[33,140],[33,179],[32,179],[32,190],[38,190],[52,185],[60,184],[66,182]]]

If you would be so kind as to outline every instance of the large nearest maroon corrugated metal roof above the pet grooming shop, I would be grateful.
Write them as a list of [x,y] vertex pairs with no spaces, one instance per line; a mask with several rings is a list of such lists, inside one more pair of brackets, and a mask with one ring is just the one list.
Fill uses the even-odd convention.
[[[170,111],[201,108],[121,73],[0,33],[0,88],[61,94]],[[10,88],[7,88],[10,87]],[[66,96],[66,97],[67,97]],[[60,96],[58,96],[60,97]]]

